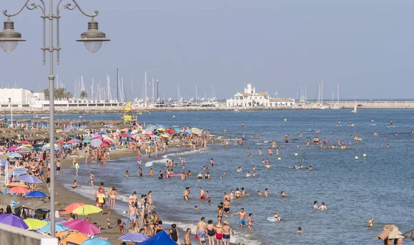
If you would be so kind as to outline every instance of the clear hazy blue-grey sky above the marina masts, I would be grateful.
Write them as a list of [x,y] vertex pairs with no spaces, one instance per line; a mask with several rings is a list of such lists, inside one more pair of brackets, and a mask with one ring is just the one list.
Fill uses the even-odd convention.
[[[337,98],[337,83],[340,98],[413,98],[412,0],[77,1],[85,12],[99,10],[95,20],[111,41],[88,52],[75,40],[90,18],[61,11],[55,72],[72,93],[75,79],[83,76],[90,93],[92,78],[103,87],[108,74],[115,97],[119,68],[128,100],[141,98],[144,72],[159,79],[161,99],[177,99],[178,87],[185,99],[195,98],[196,86],[200,98],[212,87],[218,99],[231,98],[247,83],[279,98],[297,98],[306,85],[314,99],[322,80],[326,100],[332,92]],[[0,0],[0,9],[15,12],[21,4]],[[27,41],[0,52],[2,87],[48,87],[40,14],[25,9],[12,17]]]

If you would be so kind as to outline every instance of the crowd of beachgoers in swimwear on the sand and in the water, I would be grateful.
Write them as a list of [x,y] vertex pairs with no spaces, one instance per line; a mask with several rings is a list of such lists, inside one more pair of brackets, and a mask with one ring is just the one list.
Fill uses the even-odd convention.
[[[340,125],[340,121],[338,122],[338,125]],[[356,124],[353,124],[351,122],[351,125],[356,126]],[[393,126],[393,121],[391,120],[391,126]],[[242,123],[242,128],[244,128],[245,125]],[[164,131],[172,129],[171,126],[164,129]],[[51,170],[49,161],[50,161],[50,152],[48,151],[48,148],[44,149],[31,149],[27,153],[23,153],[21,158],[16,158],[15,161],[12,161],[11,159],[7,159],[8,164],[14,165],[14,169],[27,169],[28,173],[30,175],[34,175],[40,180],[43,180],[45,182],[46,187],[49,189],[50,185],[50,171],[56,171],[57,175],[61,174],[62,170],[62,164],[61,159],[65,158],[72,158],[72,168],[74,170],[75,176],[78,176],[79,172],[83,171],[81,167],[81,163],[79,160],[79,157],[77,155],[81,155],[80,153],[83,152],[83,160],[84,164],[88,164],[88,162],[97,161],[101,162],[102,164],[108,164],[108,161],[110,161],[111,157],[111,151],[114,149],[128,149],[132,152],[136,153],[137,156],[137,164],[139,165],[139,172],[137,173],[139,177],[142,177],[144,174],[148,174],[148,176],[152,177],[155,175],[154,169],[150,167],[148,170],[148,173],[144,173],[144,166],[142,164],[148,160],[151,156],[157,157],[159,152],[166,152],[168,149],[171,149],[175,147],[178,151],[179,148],[182,150],[190,149],[192,151],[195,151],[196,149],[199,149],[199,153],[201,153],[201,149],[204,149],[208,147],[208,145],[214,145],[215,140],[220,140],[221,147],[228,147],[228,139],[226,138],[217,138],[214,135],[210,134],[210,131],[208,130],[200,130],[197,132],[197,134],[183,134],[182,132],[188,132],[190,127],[179,127],[181,129],[181,133],[177,134],[168,134],[167,137],[152,137],[154,134],[148,134],[148,136],[140,137],[138,140],[131,140],[128,137],[121,136],[121,134],[124,133],[130,133],[132,131],[141,131],[139,127],[131,127],[128,129],[128,131],[114,131],[108,138],[110,138],[112,144],[110,144],[110,147],[92,147],[92,145],[83,142],[86,138],[92,138],[99,134],[98,131],[90,131],[89,133],[81,134],[74,136],[73,139],[79,140],[77,143],[72,144],[72,147],[63,147],[64,144],[60,144],[55,149],[57,150],[57,159],[56,159],[56,169]],[[157,131],[157,129],[154,129],[154,131]],[[224,129],[226,131],[226,129]],[[320,134],[320,130],[318,129],[315,131],[315,134]],[[414,134],[414,131],[411,131],[411,134]],[[375,134],[375,136],[379,135],[378,133]],[[397,136],[397,135],[396,135]],[[127,138],[127,139],[126,139]],[[259,134],[251,134],[250,138],[258,139]],[[302,133],[299,132],[299,138],[302,138]],[[70,140],[70,138],[60,139],[61,142],[64,142],[64,140]],[[243,147],[244,142],[246,140],[245,134],[242,135],[242,138],[237,138],[237,136],[234,137],[234,145],[237,147]],[[355,144],[358,144],[359,140],[362,140],[361,136],[355,135]],[[386,138],[384,138],[384,141],[386,141]],[[290,142],[290,136],[286,134],[284,138],[282,139],[282,142],[284,144],[288,144]],[[282,144],[283,144],[282,143]],[[6,142],[6,147],[10,149],[10,147],[13,146],[19,146],[19,145],[35,145],[35,141],[28,141],[24,137],[20,138],[19,140],[8,140]],[[276,140],[272,140],[270,142],[271,147],[267,149],[267,156],[266,159],[262,160],[262,163],[264,164],[264,168],[269,169],[272,165],[270,164],[269,158],[272,158],[273,155],[279,156],[281,151],[283,150],[283,147],[281,145],[277,145]],[[311,145],[317,145],[320,148],[323,149],[352,149],[351,145],[346,145],[344,143],[344,140],[337,140],[337,145],[330,143],[327,138],[324,138],[323,140],[319,140],[319,137],[315,136],[312,140],[306,140],[306,147],[311,147]],[[297,144],[296,147],[300,147],[299,144]],[[389,147],[389,145],[386,145],[386,147]],[[356,150],[358,150],[358,147],[355,147]],[[266,152],[266,150],[264,150]],[[264,154],[264,151],[262,151],[261,148],[257,149],[257,154],[259,156],[262,156]],[[274,152],[275,151],[275,152]],[[6,151],[6,154],[8,152]],[[247,157],[253,156],[253,152],[250,148],[246,149]],[[144,157],[143,157],[144,156]],[[143,159],[144,158],[144,159]],[[279,157],[277,157],[277,160],[279,160]],[[302,162],[304,159],[302,158]],[[14,164],[12,164],[12,162]],[[179,164],[181,163],[181,166]],[[210,158],[209,164],[206,164],[197,175],[197,180],[199,179],[211,179],[211,175],[209,172],[209,168],[215,167],[215,161],[213,158]],[[177,171],[177,169],[182,168],[182,171]],[[304,167],[302,164],[299,164],[299,166],[294,166],[293,169],[305,169],[306,171],[312,171],[313,167],[308,166]],[[4,169],[2,169],[4,171]],[[204,171],[204,174],[202,173]],[[239,166],[236,170],[237,173],[243,173],[243,175],[246,178],[250,178],[252,176],[256,176],[256,166],[253,166],[253,169],[250,169],[246,171],[246,169],[243,169],[242,166]],[[246,172],[246,174],[244,174]],[[197,173],[197,172],[196,172]],[[173,175],[179,175],[181,180],[186,180],[187,178],[193,178],[193,174],[190,170],[186,169],[186,159],[184,156],[181,156],[179,158],[179,163],[175,162],[175,160],[170,160],[165,162],[165,170],[159,171],[157,177],[159,180],[162,179],[170,179]],[[89,183],[92,188],[95,187],[95,174],[92,173],[92,171],[89,171]],[[128,170],[125,171],[125,177],[128,178],[130,176],[130,173]],[[224,178],[226,176],[226,172],[224,172],[220,178]],[[107,180],[104,180],[107,181]],[[13,179],[10,180],[10,183],[13,182]],[[29,186],[29,189],[35,190],[39,187],[39,184],[31,184]],[[75,179],[72,184],[73,189],[77,189],[81,187],[77,183],[77,180]],[[199,187],[199,199],[202,201],[206,201],[209,204],[211,204],[211,198],[210,193],[208,191],[204,190],[202,187]],[[246,189],[244,187],[236,187],[235,190],[232,189],[229,191],[229,193],[224,192],[223,200],[222,202],[219,202],[217,205],[217,222],[214,222],[213,220],[207,220],[205,217],[201,217],[199,222],[197,223],[197,228],[195,231],[191,231],[190,228],[187,228],[184,233],[184,244],[190,245],[193,244],[192,242],[192,236],[193,232],[195,233],[195,239],[198,240],[199,244],[215,244],[217,245],[228,245],[230,242],[230,235],[234,235],[235,232],[233,228],[230,226],[228,220],[226,218],[233,217],[235,215],[239,216],[239,226],[241,228],[247,228],[247,232],[253,232],[253,224],[255,223],[255,220],[253,219],[254,214],[253,213],[247,213],[244,208],[240,209],[238,212],[232,213],[231,210],[231,204],[233,200],[242,200],[246,197]],[[252,190],[249,190],[252,191]],[[191,189],[190,187],[185,187],[185,190],[183,191],[184,194],[184,202],[190,200],[191,198]],[[100,183],[100,186],[97,188],[97,190],[94,193],[94,200],[96,200],[96,206],[98,206],[101,209],[110,209],[115,210],[116,209],[116,202],[117,197],[120,195],[120,193],[117,191],[115,186],[112,186],[108,189],[104,187],[103,182]],[[217,193],[213,193],[213,195],[217,195]],[[264,198],[269,197],[269,189],[266,188],[264,191],[257,191],[258,196],[264,196]],[[284,191],[281,191],[279,194],[280,198],[285,198],[288,196],[287,193]],[[106,202],[108,200],[108,204]],[[154,210],[154,202],[152,200],[152,191],[148,191],[148,193],[142,193],[141,195],[137,195],[137,191],[134,191],[128,198],[128,211],[126,212],[127,217],[127,224],[126,222],[123,222],[122,220],[117,220],[115,227],[112,226],[112,222],[110,220],[111,211],[108,211],[106,213],[107,215],[107,228],[117,229],[119,231],[119,234],[126,234],[126,233],[142,233],[144,235],[147,235],[148,237],[152,237],[155,234],[159,233],[160,231],[166,231],[168,235],[175,241],[179,242],[179,231],[177,229],[176,224],[172,224],[169,229],[164,228],[163,222],[159,215],[157,214],[157,211]],[[318,202],[315,201],[313,203],[313,209],[325,211],[327,210],[325,202],[322,202],[320,206],[318,206]],[[195,210],[198,210],[197,206],[195,206]],[[1,209],[0,209],[1,211]],[[103,211],[102,211],[103,213]],[[72,215],[69,217],[65,217],[64,215],[61,215],[62,218],[65,218],[66,220],[73,219]],[[270,218],[273,218],[274,221],[279,222],[282,221],[282,218],[279,216],[277,211],[273,212],[273,216]],[[87,217],[87,220],[90,220],[90,217]],[[371,220],[368,222],[368,226],[373,225],[374,218],[371,217]],[[302,227],[298,227],[297,233],[303,233]]]

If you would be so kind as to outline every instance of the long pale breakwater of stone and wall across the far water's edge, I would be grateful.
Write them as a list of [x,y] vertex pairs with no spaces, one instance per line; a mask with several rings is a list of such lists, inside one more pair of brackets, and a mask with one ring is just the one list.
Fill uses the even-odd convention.
[[[354,102],[335,103],[341,109],[352,109]],[[414,101],[358,101],[358,109],[414,109]],[[326,109],[330,105],[325,104]],[[150,111],[275,111],[275,110],[316,110],[320,109],[316,105],[295,105],[294,107],[139,107],[132,110],[132,113],[148,113]],[[55,107],[56,114],[107,114],[122,113],[124,107]],[[10,114],[10,107],[0,107],[0,114]],[[49,114],[49,108],[37,107],[13,107],[14,115],[28,114]]]

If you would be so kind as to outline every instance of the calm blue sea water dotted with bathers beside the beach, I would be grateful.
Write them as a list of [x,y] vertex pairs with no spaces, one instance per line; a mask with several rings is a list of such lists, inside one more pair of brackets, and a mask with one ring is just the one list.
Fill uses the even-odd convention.
[[[57,118],[77,118],[79,115],[57,115]],[[175,116],[173,118],[173,116]],[[119,114],[86,115],[86,119],[116,119]],[[284,121],[286,118],[286,122]],[[395,128],[387,128],[391,118]],[[371,119],[376,126],[370,126]],[[84,186],[77,191],[91,196],[93,190],[88,187],[88,171],[95,173],[95,182],[105,182],[106,187],[115,185],[126,201],[132,191],[137,193],[153,192],[156,211],[161,220],[175,222],[180,228],[193,228],[201,216],[217,222],[217,204],[222,200],[224,191],[244,187],[248,196],[232,202],[232,211],[244,208],[253,213],[255,223],[253,233],[247,228],[239,228],[238,217],[228,221],[235,228],[232,242],[243,244],[378,244],[376,235],[384,224],[396,224],[400,231],[414,228],[412,211],[414,209],[414,182],[412,181],[414,157],[414,110],[369,110],[360,109],[351,114],[348,109],[320,111],[190,111],[190,112],[152,112],[139,115],[141,122],[168,125],[188,125],[210,129],[217,136],[229,138],[229,147],[223,149],[219,142],[210,146],[202,154],[176,153],[170,150],[164,158],[144,158],[144,177],[137,176],[136,158],[112,160],[106,167],[92,163],[88,167],[81,164],[81,173],[77,178]],[[343,126],[337,127],[341,120]],[[352,120],[357,127],[347,127]],[[244,122],[245,128],[241,127]],[[224,133],[224,129],[227,132]],[[314,130],[314,131],[310,131]],[[320,134],[315,130],[320,129]],[[373,136],[374,131],[380,136]],[[299,138],[299,132],[303,137]],[[336,134],[333,134],[336,132]],[[363,140],[356,144],[355,133]],[[233,138],[246,134],[243,147],[234,146]],[[251,139],[250,134],[259,134],[259,139]],[[290,135],[290,142],[282,142],[284,135]],[[397,134],[397,136],[395,136]],[[404,134],[407,134],[405,136]],[[351,144],[353,149],[319,149],[318,146],[306,147],[306,140],[317,136],[326,137],[328,142],[337,144],[341,139]],[[386,137],[386,142],[384,142]],[[279,156],[266,156],[271,140],[282,147]],[[384,145],[389,144],[386,148]],[[296,147],[299,145],[299,148]],[[359,151],[355,147],[359,147]],[[253,156],[247,157],[250,148]],[[257,151],[264,151],[259,156]],[[295,153],[299,157],[295,158]],[[363,154],[366,158],[362,158]],[[184,154],[184,155],[182,155]],[[210,168],[211,180],[197,180],[196,176],[181,181],[178,177],[170,180],[158,180],[148,177],[149,168],[157,173],[165,170],[164,161],[179,157],[186,158],[186,170],[198,173],[210,158],[215,166]],[[355,156],[359,160],[354,160]],[[282,160],[277,161],[277,157]],[[271,169],[263,167],[262,159],[269,158]],[[304,162],[301,162],[304,158]],[[303,164],[312,165],[313,171],[295,170],[290,167]],[[180,165],[180,164],[179,164]],[[259,176],[246,178],[246,171],[253,173],[257,167]],[[244,171],[236,173],[237,167]],[[124,178],[124,171],[130,172],[130,178]],[[176,170],[182,171],[181,167]],[[220,175],[226,172],[223,180]],[[63,171],[59,180],[70,185],[74,179],[72,169]],[[184,202],[182,192],[191,187],[190,201]],[[198,187],[209,191],[213,204],[201,202]],[[95,187],[96,188],[96,187]],[[270,197],[257,196],[257,191],[269,189]],[[280,191],[288,193],[287,198],[279,198]],[[326,203],[327,211],[313,210],[313,202]],[[194,211],[197,205],[199,211]],[[125,203],[118,202],[118,211],[126,210]],[[266,217],[277,211],[281,222],[268,222]],[[371,216],[375,217],[375,226],[366,227]],[[297,227],[302,226],[305,233],[298,234]]]

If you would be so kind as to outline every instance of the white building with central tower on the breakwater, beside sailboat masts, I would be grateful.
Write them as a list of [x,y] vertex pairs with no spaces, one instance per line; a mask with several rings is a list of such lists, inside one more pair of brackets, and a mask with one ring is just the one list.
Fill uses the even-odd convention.
[[270,98],[268,92],[256,92],[249,83],[243,93],[235,94],[235,98],[226,100],[228,107],[293,107],[293,98]]

